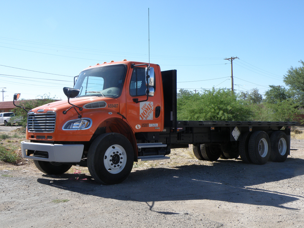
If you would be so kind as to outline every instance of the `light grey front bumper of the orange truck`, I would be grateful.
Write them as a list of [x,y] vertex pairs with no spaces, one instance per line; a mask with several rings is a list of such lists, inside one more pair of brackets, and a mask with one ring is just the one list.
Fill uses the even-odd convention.
[[[21,142],[22,157],[50,162],[80,162],[83,154],[83,144],[48,144]],[[26,155],[26,150],[36,150],[43,153],[43,157]]]

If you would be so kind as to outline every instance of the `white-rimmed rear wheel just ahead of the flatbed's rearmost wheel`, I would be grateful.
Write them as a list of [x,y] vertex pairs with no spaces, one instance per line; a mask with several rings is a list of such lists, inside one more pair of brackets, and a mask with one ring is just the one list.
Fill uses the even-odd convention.
[[264,131],[252,133],[248,142],[249,157],[254,164],[263,165],[270,157],[270,139]]

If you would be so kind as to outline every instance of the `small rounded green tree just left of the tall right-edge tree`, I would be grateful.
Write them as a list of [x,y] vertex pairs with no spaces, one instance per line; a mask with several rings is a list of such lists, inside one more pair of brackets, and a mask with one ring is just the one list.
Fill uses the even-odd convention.
[[290,99],[292,95],[283,86],[269,85],[270,89],[265,92],[265,101],[271,104]]

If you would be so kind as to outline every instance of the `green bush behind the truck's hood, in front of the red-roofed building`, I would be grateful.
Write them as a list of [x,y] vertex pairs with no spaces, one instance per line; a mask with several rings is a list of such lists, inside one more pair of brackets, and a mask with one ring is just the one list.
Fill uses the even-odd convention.
[[[22,106],[22,107],[33,109],[33,108],[36,108],[41,105],[45,105],[45,104],[48,104],[48,103],[51,103],[54,101],[55,101],[55,97],[50,98],[50,94],[49,95],[44,94],[44,95],[37,96],[36,99],[33,99],[33,100],[22,99],[22,100],[20,100],[20,103],[18,105]],[[26,126],[27,112],[25,112],[22,108],[15,108],[13,110],[13,112],[15,113],[16,118],[18,118],[19,116],[22,116],[22,121],[20,124],[22,126]]]

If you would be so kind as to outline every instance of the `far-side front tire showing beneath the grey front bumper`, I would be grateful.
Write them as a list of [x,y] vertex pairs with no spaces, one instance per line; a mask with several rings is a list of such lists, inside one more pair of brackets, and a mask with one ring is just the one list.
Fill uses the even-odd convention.
[[59,175],[68,171],[72,165],[63,164],[61,162],[49,162],[34,160],[36,167],[45,174]]

